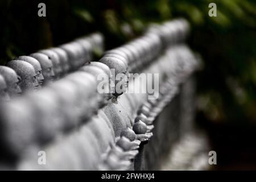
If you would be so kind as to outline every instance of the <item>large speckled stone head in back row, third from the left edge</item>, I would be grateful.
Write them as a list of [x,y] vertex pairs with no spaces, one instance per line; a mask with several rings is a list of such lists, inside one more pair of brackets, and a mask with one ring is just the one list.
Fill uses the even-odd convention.
[[34,67],[22,60],[9,61],[7,67],[13,68],[17,75],[20,76],[20,87],[23,92],[28,90],[38,89],[38,81],[36,80],[36,73]]

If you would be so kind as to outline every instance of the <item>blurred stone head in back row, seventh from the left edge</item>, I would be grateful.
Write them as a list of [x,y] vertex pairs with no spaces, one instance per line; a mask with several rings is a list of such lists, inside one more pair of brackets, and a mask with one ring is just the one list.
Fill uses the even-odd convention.
[[52,51],[55,51],[60,58],[60,66],[62,67],[61,76],[69,72],[70,66],[68,63],[68,54],[63,49],[59,47],[51,48]]

